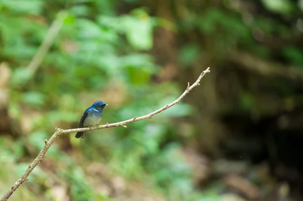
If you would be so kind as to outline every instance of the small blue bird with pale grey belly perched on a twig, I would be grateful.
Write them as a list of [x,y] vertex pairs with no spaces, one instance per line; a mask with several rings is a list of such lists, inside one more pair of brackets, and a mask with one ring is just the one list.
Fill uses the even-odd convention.
[[[89,108],[87,108],[79,122],[79,127],[90,127],[93,125],[98,125],[100,120],[102,119],[103,109],[108,106],[108,104],[103,101],[97,100],[95,101]],[[85,138],[86,131],[77,132],[75,138]]]

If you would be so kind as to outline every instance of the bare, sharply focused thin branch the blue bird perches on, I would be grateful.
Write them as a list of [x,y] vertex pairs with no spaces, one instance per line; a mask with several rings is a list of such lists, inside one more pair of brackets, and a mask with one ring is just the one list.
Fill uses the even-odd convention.
[[52,144],[55,142],[55,140],[62,134],[67,134],[67,133],[72,133],[72,132],[82,132],[82,131],[88,131],[88,130],[97,130],[97,129],[103,129],[103,128],[110,128],[110,127],[116,127],[116,126],[122,126],[122,127],[126,127],[125,124],[127,123],[131,123],[134,121],[140,121],[143,119],[147,119],[147,118],[151,118],[152,116],[172,107],[173,105],[180,103],[180,101],[186,96],[186,94],[188,94],[194,87],[199,85],[200,80],[207,74],[210,73],[210,68],[208,68],[207,70],[205,70],[203,73],[201,73],[201,75],[198,77],[198,79],[195,81],[195,83],[193,83],[190,87],[189,87],[189,83],[187,85],[186,90],[183,92],[183,94],[174,102],[154,111],[151,112],[149,114],[146,114],[144,116],[135,116],[131,119],[125,120],[125,121],[121,121],[121,122],[117,122],[117,123],[106,123],[104,125],[99,125],[96,127],[92,127],[92,128],[74,128],[74,129],[61,129],[61,128],[57,128],[56,127],[56,132],[53,134],[53,136],[47,141],[45,140],[45,146],[43,147],[43,149],[40,151],[40,153],[38,154],[38,156],[35,158],[35,160],[28,166],[28,168],[25,170],[25,172],[23,173],[23,175],[16,181],[16,183],[7,191],[7,193],[1,198],[1,201],[6,201],[8,200],[8,198],[13,194],[13,192],[26,180],[28,180],[28,175],[33,171],[33,169],[37,166],[37,164],[39,162],[41,162],[41,160],[45,157],[45,154],[47,152],[47,150],[52,146]]

